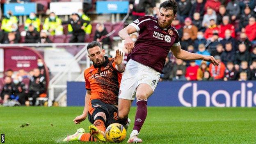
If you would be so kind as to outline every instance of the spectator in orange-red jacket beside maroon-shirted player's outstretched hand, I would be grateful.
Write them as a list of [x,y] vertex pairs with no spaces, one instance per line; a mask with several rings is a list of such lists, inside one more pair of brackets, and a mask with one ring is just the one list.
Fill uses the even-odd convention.
[[219,63],[218,66],[214,66],[213,64],[210,64],[210,75],[214,78],[214,80],[222,80],[224,78],[224,73],[226,70],[225,64],[221,61],[220,56],[216,55],[214,57],[217,62]]

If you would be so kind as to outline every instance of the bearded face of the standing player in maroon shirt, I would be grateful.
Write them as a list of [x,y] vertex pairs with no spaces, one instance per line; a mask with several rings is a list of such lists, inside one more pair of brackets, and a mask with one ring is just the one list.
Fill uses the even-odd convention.
[[161,28],[166,28],[171,25],[171,22],[176,18],[172,9],[166,11],[165,8],[161,8],[158,14],[158,25]]

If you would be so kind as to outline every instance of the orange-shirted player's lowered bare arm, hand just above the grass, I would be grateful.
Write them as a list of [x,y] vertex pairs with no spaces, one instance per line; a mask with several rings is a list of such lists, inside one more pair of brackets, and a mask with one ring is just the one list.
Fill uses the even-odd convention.
[[87,90],[86,94],[85,94],[85,107],[84,107],[84,111],[80,116],[75,117],[75,119],[73,119],[75,124],[79,124],[80,122],[84,121],[87,117],[88,114],[88,108],[89,108],[89,101],[91,98],[91,90]]

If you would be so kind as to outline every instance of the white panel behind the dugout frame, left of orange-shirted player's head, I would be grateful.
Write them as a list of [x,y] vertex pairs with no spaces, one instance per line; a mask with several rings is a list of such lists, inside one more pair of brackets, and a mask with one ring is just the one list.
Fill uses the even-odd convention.
[[[44,61],[51,72],[59,72],[68,69],[69,63],[73,60],[73,55],[64,48],[46,48],[44,50]],[[78,62],[72,63],[71,72],[81,72]]]

